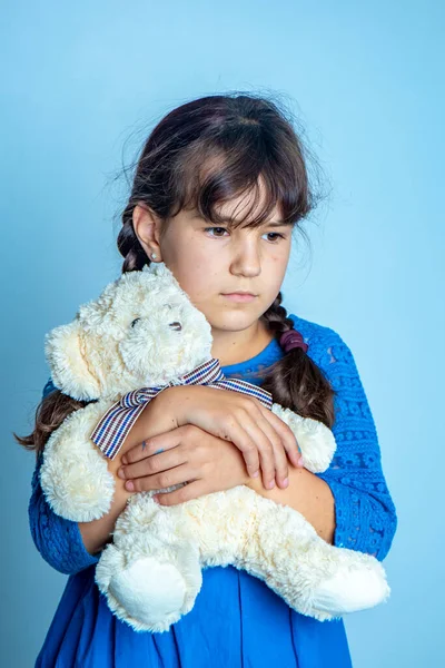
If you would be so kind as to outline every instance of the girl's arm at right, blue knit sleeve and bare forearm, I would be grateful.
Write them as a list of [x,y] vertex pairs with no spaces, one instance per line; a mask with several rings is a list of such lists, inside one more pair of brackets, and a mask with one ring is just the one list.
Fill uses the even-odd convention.
[[[319,536],[336,547],[374,554],[389,551],[397,517],[382,470],[376,428],[349,347],[333,330],[309,344],[337,394],[333,432],[337,451],[327,471],[313,474],[289,468],[289,487],[248,485],[306,517]],[[318,334],[319,337],[319,334]]]

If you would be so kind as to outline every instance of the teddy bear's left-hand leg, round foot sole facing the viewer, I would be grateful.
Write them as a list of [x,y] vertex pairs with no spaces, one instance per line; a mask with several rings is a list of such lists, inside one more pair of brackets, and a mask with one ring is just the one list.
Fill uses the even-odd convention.
[[191,610],[202,574],[184,504],[162,508],[151,494],[129,500],[96,567],[96,582],[119,619],[137,631],[160,632]]

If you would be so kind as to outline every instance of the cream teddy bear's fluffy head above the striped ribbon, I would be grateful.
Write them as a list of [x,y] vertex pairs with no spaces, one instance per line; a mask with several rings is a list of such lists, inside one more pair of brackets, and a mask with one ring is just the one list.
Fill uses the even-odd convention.
[[117,400],[166,385],[211,357],[211,327],[164,263],[122,274],[75,320],[51,330],[44,354],[57,387]]

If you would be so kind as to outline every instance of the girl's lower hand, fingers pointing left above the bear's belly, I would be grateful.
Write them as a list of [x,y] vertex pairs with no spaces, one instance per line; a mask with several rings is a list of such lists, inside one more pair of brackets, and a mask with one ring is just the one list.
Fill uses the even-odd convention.
[[127,480],[129,491],[159,490],[188,482],[172,492],[157,494],[156,500],[162,505],[184,503],[249,482],[239,450],[192,424],[135,445],[125,453],[121,463],[126,465],[118,475]]

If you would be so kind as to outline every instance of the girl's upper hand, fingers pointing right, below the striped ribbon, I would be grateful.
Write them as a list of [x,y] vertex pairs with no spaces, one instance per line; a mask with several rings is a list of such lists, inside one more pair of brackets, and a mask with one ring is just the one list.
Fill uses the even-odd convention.
[[206,385],[176,385],[164,392],[164,405],[175,414],[178,426],[195,424],[231,441],[243,452],[249,475],[258,475],[261,466],[266,489],[274,487],[275,477],[278,484],[287,487],[286,453],[295,468],[303,466],[290,428],[257,399]]

